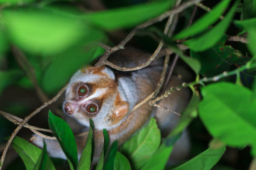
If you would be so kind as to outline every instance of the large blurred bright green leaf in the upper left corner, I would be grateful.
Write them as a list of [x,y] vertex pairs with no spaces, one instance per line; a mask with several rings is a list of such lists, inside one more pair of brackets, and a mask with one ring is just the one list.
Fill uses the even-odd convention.
[[40,9],[3,11],[10,41],[26,52],[52,55],[82,40],[100,40],[102,33],[78,18]]

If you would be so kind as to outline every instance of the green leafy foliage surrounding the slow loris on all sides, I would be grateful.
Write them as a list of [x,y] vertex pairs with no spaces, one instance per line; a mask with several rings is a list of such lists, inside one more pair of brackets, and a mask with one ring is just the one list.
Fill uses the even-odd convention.
[[[18,87],[15,90],[33,89],[32,82],[15,61],[17,56],[13,47],[24,53],[34,69],[38,87],[51,96],[64,87],[80,67],[94,64],[104,52],[98,47],[100,42],[113,44],[109,39],[111,36],[108,36],[111,31],[134,28],[172,9],[176,2],[156,0],[92,12],[81,10],[78,6],[82,3],[78,1],[63,1],[0,2],[0,96],[12,87]],[[256,0],[203,2],[210,5],[210,12],[200,11],[195,22],[187,28],[184,23],[189,22],[193,8],[185,9],[179,15],[183,21],[178,22],[173,37],[140,30],[154,39],[163,39],[166,47],[177,53],[181,62],[196,75],[195,81],[189,84],[192,97],[176,128],[163,139],[156,120],[151,118],[119,148],[118,141],[110,141],[104,129],[102,153],[97,165],[92,165],[95,149],[92,121],[78,160],[71,128],[50,111],[49,127],[59,141],[71,170],[210,170],[214,165],[221,166],[219,160],[228,152],[226,148],[242,150],[250,147],[247,155],[250,161],[256,155]],[[165,23],[163,20],[154,26],[163,30]],[[248,43],[230,42],[231,35],[248,38]],[[155,43],[152,39],[147,42],[144,37],[136,38],[149,45]],[[186,45],[190,51],[180,50],[177,43]],[[230,75],[237,77],[228,78]],[[224,82],[216,82],[223,77]],[[1,98],[2,101],[5,105]],[[12,109],[15,110],[15,104]],[[203,145],[193,150],[190,160],[166,167],[180,134],[187,127],[190,131],[196,129],[199,126],[195,125],[196,121],[202,125],[200,130],[207,130],[204,132],[206,136],[214,138],[209,147]],[[210,139],[195,143],[205,144],[205,141],[208,143]],[[27,170],[55,170],[56,165],[48,157],[46,145],[41,150],[19,137],[15,137],[12,145]],[[249,165],[243,166],[248,168]]]

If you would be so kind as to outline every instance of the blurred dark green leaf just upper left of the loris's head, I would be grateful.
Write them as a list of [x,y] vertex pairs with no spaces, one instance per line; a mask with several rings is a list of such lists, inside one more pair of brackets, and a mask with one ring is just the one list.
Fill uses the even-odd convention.
[[57,55],[44,72],[42,89],[45,92],[54,93],[64,87],[79,68],[90,62],[94,52],[95,48],[92,48],[89,52],[84,52],[79,47]]

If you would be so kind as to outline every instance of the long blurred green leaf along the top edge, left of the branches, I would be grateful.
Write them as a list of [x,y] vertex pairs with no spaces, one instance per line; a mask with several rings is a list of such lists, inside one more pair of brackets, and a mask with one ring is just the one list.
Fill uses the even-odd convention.
[[89,13],[82,16],[82,18],[107,30],[131,28],[172,8],[175,2],[176,0],[151,2],[149,4]]

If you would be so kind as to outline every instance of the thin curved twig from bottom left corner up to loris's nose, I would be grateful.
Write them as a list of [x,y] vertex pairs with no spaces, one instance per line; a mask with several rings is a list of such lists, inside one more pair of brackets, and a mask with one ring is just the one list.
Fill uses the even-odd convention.
[[45,107],[47,107],[48,105],[50,105],[51,103],[55,102],[56,100],[58,100],[58,98],[61,96],[61,94],[67,89],[67,85],[65,85],[65,87],[63,87],[55,97],[53,97],[51,100],[45,102],[43,105],[41,105],[40,107],[38,107],[35,111],[33,111],[30,115],[26,116],[25,119],[23,120],[23,122],[20,123],[20,125],[18,125],[18,127],[13,131],[12,135],[10,136],[10,139],[8,140],[8,142],[5,145],[5,149],[3,150],[3,154],[1,156],[0,159],[0,170],[2,169],[3,166],[3,161],[5,160],[5,155],[7,153],[7,150],[11,144],[11,142],[13,141],[14,137],[17,135],[17,133],[19,132],[19,130],[26,124],[26,122],[28,122],[28,120],[31,119],[31,117],[33,117],[34,115],[36,115],[38,112],[40,112],[41,110],[43,110]]

